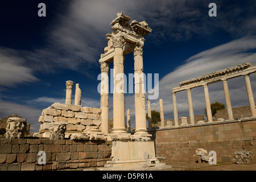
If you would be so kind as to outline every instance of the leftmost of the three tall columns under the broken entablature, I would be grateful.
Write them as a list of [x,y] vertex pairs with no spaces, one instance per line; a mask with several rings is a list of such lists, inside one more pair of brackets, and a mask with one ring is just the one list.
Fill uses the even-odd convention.
[[109,133],[109,63],[101,62],[101,127]]

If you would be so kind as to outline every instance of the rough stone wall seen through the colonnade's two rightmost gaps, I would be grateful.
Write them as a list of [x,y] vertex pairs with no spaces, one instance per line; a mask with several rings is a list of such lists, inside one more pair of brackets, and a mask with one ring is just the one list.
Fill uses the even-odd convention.
[[[251,117],[251,110],[249,106],[234,107],[232,108],[232,111],[234,119]],[[218,110],[215,114],[215,118],[224,118],[226,120],[228,119],[228,112],[226,111],[226,109]]]

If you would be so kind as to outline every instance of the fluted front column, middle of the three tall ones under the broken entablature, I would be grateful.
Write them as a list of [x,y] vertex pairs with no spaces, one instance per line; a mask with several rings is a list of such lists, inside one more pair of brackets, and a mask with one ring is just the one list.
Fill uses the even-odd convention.
[[113,131],[127,133],[125,129],[125,84],[123,77],[123,46],[125,40],[121,36],[113,38],[114,46],[114,93],[113,93]]

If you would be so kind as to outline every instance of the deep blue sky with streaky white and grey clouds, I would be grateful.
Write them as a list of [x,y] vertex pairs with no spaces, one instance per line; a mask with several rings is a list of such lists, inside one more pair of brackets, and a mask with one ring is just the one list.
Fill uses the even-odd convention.
[[[38,4],[46,4],[46,17]],[[210,17],[209,3],[217,17]],[[179,82],[238,64],[256,64],[255,1],[6,1],[0,6],[0,117],[18,114],[39,131],[42,110],[65,102],[65,81],[80,84],[82,106],[100,107],[101,53],[110,22],[123,12],[131,20],[146,20],[152,28],[145,36],[144,73],[159,74],[159,97],[151,109],[173,118],[171,88]],[[113,68],[113,64],[110,64]],[[125,73],[134,73],[133,55],[127,55]],[[256,90],[256,76],[251,75]],[[233,107],[249,105],[243,77],[228,81]],[[75,87],[73,95],[75,94]],[[209,85],[210,102],[225,104],[222,83]],[[113,96],[109,96],[110,118]],[[146,94],[147,98],[147,94]],[[195,114],[205,108],[203,88],[192,89]],[[179,117],[187,116],[187,93],[177,93]],[[126,94],[126,109],[134,122],[134,95]],[[147,110],[147,108],[146,108]]]

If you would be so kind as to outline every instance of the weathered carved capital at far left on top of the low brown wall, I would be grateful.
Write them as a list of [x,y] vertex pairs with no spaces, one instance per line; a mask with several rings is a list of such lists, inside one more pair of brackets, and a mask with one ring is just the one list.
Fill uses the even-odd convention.
[[26,127],[26,119],[18,117],[8,118],[6,126],[6,138],[23,138]]

